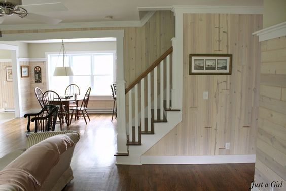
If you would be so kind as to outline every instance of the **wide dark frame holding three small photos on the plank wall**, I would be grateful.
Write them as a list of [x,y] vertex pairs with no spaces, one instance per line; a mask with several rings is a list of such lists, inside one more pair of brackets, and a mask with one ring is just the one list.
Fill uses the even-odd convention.
[[231,75],[231,54],[190,54],[189,74]]

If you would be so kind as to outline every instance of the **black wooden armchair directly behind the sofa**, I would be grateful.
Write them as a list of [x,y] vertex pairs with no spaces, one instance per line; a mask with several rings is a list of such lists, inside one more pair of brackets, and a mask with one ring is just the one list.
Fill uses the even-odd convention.
[[[55,131],[59,106],[46,105],[39,113],[27,113],[24,117],[28,117],[26,136],[38,131]],[[34,124],[34,131],[31,132],[31,122]]]

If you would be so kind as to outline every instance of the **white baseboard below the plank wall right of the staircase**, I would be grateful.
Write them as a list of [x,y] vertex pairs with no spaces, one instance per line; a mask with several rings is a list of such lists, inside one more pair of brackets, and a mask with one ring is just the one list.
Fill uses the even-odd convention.
[[255,154],[206,156],[141,156],[142,164],[255,163]]

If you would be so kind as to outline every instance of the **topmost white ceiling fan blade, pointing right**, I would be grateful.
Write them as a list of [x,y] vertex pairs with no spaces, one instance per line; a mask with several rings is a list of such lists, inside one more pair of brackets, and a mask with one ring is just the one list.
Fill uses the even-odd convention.
[[29,13],[49,12],[49,11],[67,11],[68,9],[60,2],[46,4],[21,5]]

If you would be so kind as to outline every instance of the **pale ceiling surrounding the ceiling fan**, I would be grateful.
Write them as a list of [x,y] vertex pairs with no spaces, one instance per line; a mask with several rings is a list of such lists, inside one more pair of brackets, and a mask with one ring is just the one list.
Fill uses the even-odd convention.
[[[263,6],[263,0],[22,0],[23,5],[39,3],[62,3],[65,11],[28,10],[29,12],[62,20],[61,23],[95,22],[95,21],[138,21],[139,10],[168,10],[173,5],[207,5],[207,6]],[[138,9],[139,8],[139,9]],[[139,16],[140,15],[140,16]],[[113,19],[106,19],[112,16]],[[41,24],[16,15],[6,16],[1,25]],[[1,27],[0,25],[0,27]]]

